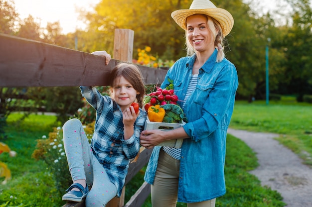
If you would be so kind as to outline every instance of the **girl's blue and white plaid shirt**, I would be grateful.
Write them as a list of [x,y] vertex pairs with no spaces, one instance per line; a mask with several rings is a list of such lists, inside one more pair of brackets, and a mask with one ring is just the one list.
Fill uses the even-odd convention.
[[140,133],[144,129],[146,112],[134,123],[134,134],[124,140],[123,114],[120,106],[109,96],[102,96],[95,87],[80,87],[82,96],[96,109],[94,133],[91,140],[93,153],[117,188],[120,197],[128,173],[129,159],[140,150]]

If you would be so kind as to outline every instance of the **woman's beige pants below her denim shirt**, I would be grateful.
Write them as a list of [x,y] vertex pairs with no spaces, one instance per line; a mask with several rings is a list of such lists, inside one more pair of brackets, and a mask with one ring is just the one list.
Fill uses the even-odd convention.
[[[154,185],[151,185],[153,207],[176,207],[180,161],[160,150]],[[215,199],[188,203],[187,207],[215,207]]]

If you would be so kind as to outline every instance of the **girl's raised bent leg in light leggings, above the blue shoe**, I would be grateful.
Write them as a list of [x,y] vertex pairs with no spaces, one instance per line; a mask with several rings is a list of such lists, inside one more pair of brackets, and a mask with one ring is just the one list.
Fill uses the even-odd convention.
[[93,153],[80,120],[73,118],[64,124],[63,142],[73,182],[85,180],[92,184],[91,155]]

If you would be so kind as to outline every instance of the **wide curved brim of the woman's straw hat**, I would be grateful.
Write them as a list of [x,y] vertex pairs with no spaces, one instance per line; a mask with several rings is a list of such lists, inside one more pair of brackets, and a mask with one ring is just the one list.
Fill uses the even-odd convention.
[[222,28],[223,36],[228,35],[234,25],[234,18],[223,8],[179,9],[171,13],[173,20],[186,31],[186,18],[194,14],[205,14],[217,20]]

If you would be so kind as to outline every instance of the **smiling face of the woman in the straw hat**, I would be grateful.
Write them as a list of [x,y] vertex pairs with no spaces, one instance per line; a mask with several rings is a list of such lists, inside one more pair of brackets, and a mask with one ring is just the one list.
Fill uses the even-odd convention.
[[187,38],[197,52],[213,51],[214,38],[208,29],[207,17],[194,14],[186,19]]

